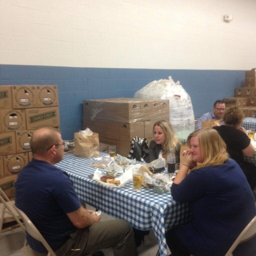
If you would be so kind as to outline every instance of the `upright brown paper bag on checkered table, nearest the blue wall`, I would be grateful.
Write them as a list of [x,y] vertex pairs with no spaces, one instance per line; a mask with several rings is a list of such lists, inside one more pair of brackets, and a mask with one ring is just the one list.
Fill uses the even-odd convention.
[[74,155],[84,158],[99,156],[99,134],[82,135],[79,132],[74,133],[75,151]]

